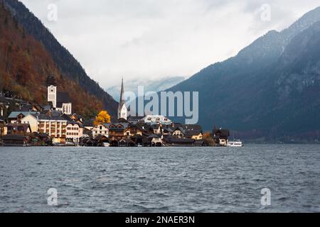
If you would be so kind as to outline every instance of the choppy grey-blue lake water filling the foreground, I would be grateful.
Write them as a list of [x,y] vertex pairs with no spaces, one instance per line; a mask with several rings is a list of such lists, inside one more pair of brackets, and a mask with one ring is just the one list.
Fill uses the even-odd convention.
[[320,212],[320,146],[0,148],[0,192],[1,212]]

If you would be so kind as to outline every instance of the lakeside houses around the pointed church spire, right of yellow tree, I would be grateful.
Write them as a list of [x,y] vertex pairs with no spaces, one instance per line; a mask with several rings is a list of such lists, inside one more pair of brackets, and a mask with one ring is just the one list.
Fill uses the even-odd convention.
[[[166,116],[128,116],[122,79],[117,121],[97,126],[86,125],[92,138],[103,138],[103,144],[112,146],[194,146],[205,145],[201,126],[173,123]],[[81,145],[94,145],[92,138],[84,138]],[[96,141],[96,144],[102,144]]]

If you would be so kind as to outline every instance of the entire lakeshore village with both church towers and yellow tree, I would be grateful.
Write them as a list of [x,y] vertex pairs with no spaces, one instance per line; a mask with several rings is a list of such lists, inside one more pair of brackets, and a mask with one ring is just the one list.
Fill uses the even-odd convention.
[[[166,116],[128,116],[124,83],[117,120],[107,111],[85,121],[73,113],[68,92],[48,85],[48,103],[33,104],[0,94],[0,145],[3,146],[93,146],[170,147],[227,146],[230,133],[214,128],[204,133],[199,125],[175,123]],[[14,106],[14,110],[10,111]],[[5,114],[7,116],[4,116]]]

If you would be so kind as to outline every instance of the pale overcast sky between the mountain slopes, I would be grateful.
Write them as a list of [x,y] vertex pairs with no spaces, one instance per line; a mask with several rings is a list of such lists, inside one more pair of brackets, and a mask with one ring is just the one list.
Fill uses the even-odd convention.
[[[320,6],[319,0],[22,2],[104,88],[119,84],[122,75],[125,80],[190,77]],[[57,6],[57,21],[50,4]],[[263,4],[270,6],[270,20]]]

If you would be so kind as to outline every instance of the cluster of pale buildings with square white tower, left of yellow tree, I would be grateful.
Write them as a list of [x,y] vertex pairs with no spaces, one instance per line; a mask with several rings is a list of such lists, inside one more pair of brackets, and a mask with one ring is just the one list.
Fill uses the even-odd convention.
[[50,85],[47,106],[21,103],[19,109],[21,111],[11,112],[7,118],[8,123],[1,127],[3,140],[6,140],[6,135],[11,135],[7,137],[12,142],[13,135],[38,133],[47,135],[53,144],[79,144],[83,132],[82,119],[72,114],[68,92],[57,92],[57,87]]

